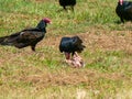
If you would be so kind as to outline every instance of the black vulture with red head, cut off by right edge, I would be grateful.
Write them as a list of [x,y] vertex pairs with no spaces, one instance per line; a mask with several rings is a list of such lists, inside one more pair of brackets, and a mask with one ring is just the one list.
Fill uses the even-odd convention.
[[132,1],[119,0],[116,12],[121,22],[124,23],[124,20],[132,21]]

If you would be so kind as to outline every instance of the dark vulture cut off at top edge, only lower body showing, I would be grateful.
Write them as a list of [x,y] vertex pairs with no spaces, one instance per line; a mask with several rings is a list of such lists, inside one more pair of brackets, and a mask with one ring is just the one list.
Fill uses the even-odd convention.
[[76,4],[76,0],[59,0],[59,4],[66,10],[67,6],[72,7],[72,10],[74,11],[74,6]]

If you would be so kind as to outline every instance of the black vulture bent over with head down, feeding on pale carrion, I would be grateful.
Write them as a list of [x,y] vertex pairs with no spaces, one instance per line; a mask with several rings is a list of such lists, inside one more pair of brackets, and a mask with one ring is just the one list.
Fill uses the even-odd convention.
[[62,37],[61,40],[59,51],[65,53],[66,59],[70,59],[70,54],[74,56],[75,52],[80,53],[84,48],[85,45],[79,36]]

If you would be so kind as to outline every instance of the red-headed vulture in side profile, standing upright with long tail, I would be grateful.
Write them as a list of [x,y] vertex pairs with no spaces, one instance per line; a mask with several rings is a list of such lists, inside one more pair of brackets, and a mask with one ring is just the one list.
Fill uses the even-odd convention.
[[23,48],[31,46],[32,51],[35,51],[36,44],[43,40],[46,33],[46,25],[51,20],[44,18],[40,21],[36,28],[25,29],[14,34],[0,37],[0,45],[15,46],[18,48]]

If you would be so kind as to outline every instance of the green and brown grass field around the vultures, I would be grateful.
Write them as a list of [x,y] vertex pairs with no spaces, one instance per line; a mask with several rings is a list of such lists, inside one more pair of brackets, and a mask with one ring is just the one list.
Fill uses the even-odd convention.
[[[0,36],[50,18],[36,52],[0,46],[0,99],[132,99],[132,23],[118,24],[118,0],[77,0],[75,12],[57,0],[0,0]],[[86,45],[85,68],[58,51],[62,36]]]

